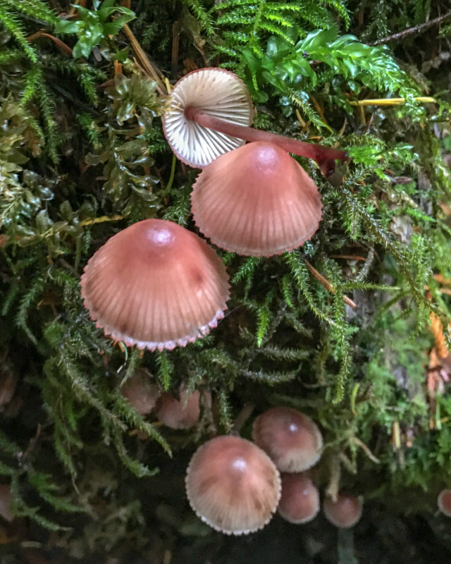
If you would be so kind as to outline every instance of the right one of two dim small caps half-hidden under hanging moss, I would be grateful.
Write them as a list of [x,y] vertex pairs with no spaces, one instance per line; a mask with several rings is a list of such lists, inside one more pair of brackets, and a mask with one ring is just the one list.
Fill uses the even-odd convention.
[[200,392],[194,390],[188,394],[184,386],[180,386],[180,400],[176,400],[170,393],[161,394],[156,405],[156,417],[171,429],[191,429],[199,421]]

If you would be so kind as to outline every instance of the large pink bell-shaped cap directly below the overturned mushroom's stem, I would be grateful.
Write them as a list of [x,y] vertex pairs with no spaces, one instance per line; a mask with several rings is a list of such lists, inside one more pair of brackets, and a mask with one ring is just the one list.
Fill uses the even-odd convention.
[[270,257],[299,247],[321,220],[321,195],[288,153],[254,142],[223,154],[197,177],[192,214],[215,245]]

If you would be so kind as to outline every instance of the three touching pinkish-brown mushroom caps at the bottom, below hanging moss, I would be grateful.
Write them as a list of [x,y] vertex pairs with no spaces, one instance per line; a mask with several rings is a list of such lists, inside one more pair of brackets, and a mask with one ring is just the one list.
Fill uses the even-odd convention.
[[319,491],[305,470],[321,455],[316,424],[291,407],[273,407],[255,419],[252,439],[220,436],[194,453],[186,489],[195,513],[226,534],[257,531],[276,509],[292,523],[314,519]]

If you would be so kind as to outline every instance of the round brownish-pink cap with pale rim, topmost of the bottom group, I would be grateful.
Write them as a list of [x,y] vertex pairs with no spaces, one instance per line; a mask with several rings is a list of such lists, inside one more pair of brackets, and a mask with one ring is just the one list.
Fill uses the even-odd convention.
[[271,407],[254,421],[252,439],[280,472],[302,472],[321,456],[323,437],[316,424],[292,407]]

